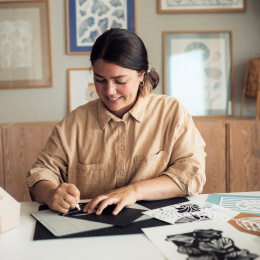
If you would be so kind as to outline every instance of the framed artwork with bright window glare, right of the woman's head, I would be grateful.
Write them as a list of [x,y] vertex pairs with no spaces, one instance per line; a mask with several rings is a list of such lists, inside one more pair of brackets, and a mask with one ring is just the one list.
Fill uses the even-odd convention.
[[233,115],[231,31],[165,31],[164,94],[192,116]]

